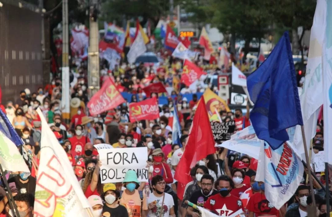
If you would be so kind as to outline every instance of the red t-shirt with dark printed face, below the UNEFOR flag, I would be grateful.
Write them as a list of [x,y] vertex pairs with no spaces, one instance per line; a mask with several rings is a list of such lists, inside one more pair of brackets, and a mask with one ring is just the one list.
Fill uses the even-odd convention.
[[261,215],[276,215],[279,217],[279,210],[266,199],[265,194],[261,192],[254,193],[246,207],[250,212],[254,212],[255,216]]

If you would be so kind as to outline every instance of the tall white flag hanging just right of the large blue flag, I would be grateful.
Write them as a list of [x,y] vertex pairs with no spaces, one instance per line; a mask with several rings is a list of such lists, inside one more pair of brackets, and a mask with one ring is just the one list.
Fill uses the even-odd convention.
[[[326,29],[326,0],[318,0],[310,35],[310,49],[305,80],[300,95],[303,127],[307,149],[316,134],[320,106],[323,104],[322,45]],[[328,67],[328,66],[326,66]],[[296,126],[293,141],[299,154],[304,153],[301,126]],[[324,147],[325,148],[325,147]]]

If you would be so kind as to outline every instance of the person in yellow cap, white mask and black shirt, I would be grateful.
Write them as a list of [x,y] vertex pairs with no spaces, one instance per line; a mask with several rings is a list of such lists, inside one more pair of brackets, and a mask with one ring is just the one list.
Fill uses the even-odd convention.
[[101,198],[105,201],[102,214],[108,217],[128,217],[126,207],[118,203],[120,192],[115,184],[107,183],[103,187]]

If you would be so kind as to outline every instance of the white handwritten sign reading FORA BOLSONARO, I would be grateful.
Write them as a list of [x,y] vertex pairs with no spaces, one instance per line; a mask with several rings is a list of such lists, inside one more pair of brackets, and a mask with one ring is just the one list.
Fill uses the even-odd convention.
[[102,183],[123,182],[125,173],[132,169],[137,173],[138,181],[148,181],[149,171],[146,168],[147,148],[99,149],[99,160],[102,162],[100,178]]

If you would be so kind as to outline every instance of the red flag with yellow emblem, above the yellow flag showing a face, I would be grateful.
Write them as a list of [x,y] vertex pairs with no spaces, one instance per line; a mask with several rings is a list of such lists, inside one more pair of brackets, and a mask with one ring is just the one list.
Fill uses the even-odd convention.
[[206,74],[200,67],[188,59],[183,63],[183,71],[181,75],[181,82],[190,86],[194,81],[198,80],[201,75]]

